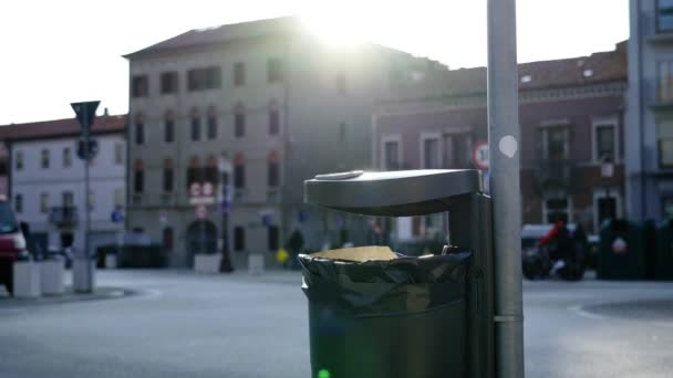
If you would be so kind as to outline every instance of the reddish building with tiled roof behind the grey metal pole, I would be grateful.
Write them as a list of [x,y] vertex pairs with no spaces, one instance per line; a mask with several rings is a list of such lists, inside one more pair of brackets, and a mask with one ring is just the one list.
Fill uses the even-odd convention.
[[[625,88],[624,43],[591,56],[519,65],[525,223],[562,219],[597,232],[603,220],[624,214]],[[380,103],[372,159],[383,170],[486,169],[487,125],[486,69],[428,75]],[[433,217],[400,222],[393,227],[402,239],[443,228]]]

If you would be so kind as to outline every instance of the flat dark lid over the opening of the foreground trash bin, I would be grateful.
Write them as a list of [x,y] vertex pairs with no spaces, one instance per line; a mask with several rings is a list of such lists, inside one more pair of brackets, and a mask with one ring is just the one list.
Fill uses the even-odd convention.
[[319,175],[304,181],[304,202],[380,217],[446,211],[448,199],[482,192],[476,169],[422,169]]

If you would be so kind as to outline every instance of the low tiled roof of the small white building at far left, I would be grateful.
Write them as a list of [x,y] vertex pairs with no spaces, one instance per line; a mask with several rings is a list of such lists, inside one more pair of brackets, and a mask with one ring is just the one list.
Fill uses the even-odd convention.
[[[93,126],[93,134],[122,133],[126,129],[126,118],[123,115],[99,116]],[[11,124],[0,126],[0,140],[51,139],[77,135],[80,124],[73,118]]]

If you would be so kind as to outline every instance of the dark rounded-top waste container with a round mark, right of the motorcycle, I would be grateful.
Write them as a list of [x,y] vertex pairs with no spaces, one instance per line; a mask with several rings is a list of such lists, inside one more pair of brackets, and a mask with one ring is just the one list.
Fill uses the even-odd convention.
[[597,275],[600,280],[644,280],[645,232],[641,224],[610,220],[601,229]]

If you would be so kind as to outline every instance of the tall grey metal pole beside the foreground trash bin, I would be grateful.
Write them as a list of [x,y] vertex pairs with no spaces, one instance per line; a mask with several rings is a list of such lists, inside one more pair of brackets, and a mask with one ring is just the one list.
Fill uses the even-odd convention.
[[525,372],[516,0],[487,1],[496,375],[500,378],[520,378]]

